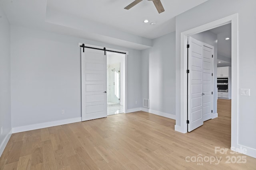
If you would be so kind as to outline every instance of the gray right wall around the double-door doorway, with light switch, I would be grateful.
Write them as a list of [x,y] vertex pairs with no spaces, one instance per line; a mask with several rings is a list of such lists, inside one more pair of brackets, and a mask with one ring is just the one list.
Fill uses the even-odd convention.
[[249,88],[250,96],[238,93],[238,144],[256,149],[256,1],[208,0],[176,17],[176,125],[180,125],[180,33],[238,13],[238,89]]

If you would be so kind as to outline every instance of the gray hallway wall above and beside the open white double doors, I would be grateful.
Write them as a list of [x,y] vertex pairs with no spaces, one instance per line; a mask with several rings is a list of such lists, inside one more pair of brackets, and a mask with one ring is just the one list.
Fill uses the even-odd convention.
[[217,89],[217,35],[211,31],[204,31],[202,33],[194,34],[191,35],[191,37],[202,41],[206,44],[214,46],[214,68],[213,68],[213,84],[214,84],[214,89],[213,89],[213,113],[217,113],[217,99],[218,99],[218,89]]

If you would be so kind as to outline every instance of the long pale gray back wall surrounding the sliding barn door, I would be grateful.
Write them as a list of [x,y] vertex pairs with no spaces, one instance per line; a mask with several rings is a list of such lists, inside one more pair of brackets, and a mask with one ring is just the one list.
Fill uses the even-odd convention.
[[129,51],[127,107],[141,107],[140,51],[12,25],[12,127],[81,117],[78,42]]

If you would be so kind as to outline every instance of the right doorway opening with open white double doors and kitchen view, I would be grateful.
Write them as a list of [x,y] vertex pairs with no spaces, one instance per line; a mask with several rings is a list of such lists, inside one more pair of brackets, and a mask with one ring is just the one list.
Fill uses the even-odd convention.
[[190,35],[188,44],[188,131],[218,116],[231,121],[231,23]]

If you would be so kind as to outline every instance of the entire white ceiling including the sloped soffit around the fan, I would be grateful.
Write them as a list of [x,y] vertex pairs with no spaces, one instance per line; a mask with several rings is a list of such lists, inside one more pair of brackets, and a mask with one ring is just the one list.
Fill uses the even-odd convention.
[[[165,12],[158,14],[153,2],[143,0],[0,0],[13,25],[34,27],[65,35],[146,49],[152,40],[175,31],[175,16],[207,0],[161,0]],[[150,22],[144,23],[147,19]],[[151,25],[151,22],[156,25]]]

